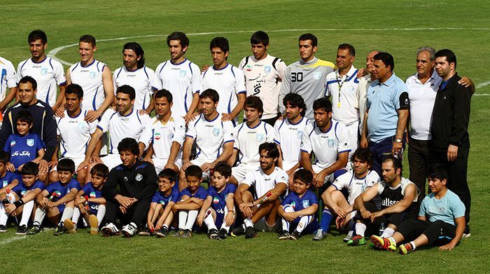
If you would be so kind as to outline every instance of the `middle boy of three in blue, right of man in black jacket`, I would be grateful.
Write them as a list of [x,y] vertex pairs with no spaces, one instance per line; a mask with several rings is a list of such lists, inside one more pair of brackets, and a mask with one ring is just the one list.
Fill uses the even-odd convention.
[[181,191],[179,202],[172,207],[172,212],[179,214],[179,230],[174,236],[189,238],[193,235],[193,226],[207,197],[207,191],[201,186],[201,167],[190,165],[185,174],[188,186]]

